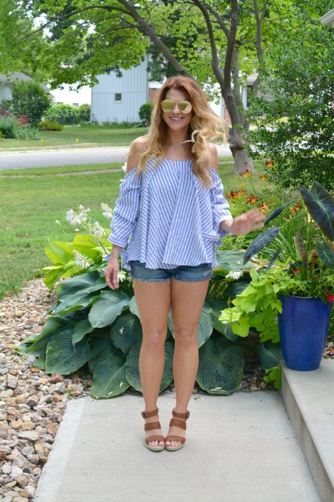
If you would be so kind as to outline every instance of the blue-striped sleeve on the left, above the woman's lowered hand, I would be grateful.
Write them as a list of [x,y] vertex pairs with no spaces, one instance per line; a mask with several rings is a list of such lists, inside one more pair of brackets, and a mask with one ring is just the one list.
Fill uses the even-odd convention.
[[[139,217],[141,175],[136,177],[137,170],[138,167],[135,167],[125,175],[110,222],[107,240],[121,247],[127,245]],[[109,256],[106,256],[105,260],[108,261]]]

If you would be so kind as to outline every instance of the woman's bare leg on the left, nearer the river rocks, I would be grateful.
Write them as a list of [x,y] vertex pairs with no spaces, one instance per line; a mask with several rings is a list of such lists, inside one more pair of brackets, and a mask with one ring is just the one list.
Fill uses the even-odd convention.
[[[152,411],[156,408],[164,371],[170,289],[169,281],[134,281],[134,292],[143,328],[139,371],[145,411]],[[145,423],[157,420],[157,416],[154,415],[146,418]],[[157,434],[163,435],[161,429],[146,431],[146,437]],[[164,442],[150,441],[149,444],[162,446]]]

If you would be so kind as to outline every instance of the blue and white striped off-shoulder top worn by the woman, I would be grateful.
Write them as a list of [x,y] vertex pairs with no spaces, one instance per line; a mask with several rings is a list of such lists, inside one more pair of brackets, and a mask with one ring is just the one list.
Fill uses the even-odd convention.
[[192,162],[163,159],[154,167],[152,160],[138,179],[138,167],[125,175],[107,237],[124,248],[131,236],[122,250],[122,268],[130,270],[129,260],[150,269],[201,263],[217,267],[216,248],[226,235],[219,223],[233,218],[216,171],[210,167],[213,186],[205,188],[193,174]]

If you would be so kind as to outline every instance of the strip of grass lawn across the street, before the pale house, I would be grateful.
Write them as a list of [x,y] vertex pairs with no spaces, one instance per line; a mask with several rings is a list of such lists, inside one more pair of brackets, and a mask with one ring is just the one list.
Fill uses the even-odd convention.
[[[2,149],[39,149],[62,145],[78,145],[94,143],[96,147],[127,146],[138,136],[144,136],[147,128],[113,129],[106,126],[64,126],[63,131],[40,131],[39,140],[10,140],[0,141]],[[43,141],[41,141],[43,139]],[[77,142],[78,140],[78,142]]]

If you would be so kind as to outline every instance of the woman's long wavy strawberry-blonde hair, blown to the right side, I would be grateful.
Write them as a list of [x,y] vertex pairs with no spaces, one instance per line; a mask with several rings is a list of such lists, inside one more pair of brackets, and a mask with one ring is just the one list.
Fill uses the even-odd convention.
[[[226,143],[229,127],[224,119],[218,117],[211,110],[205,92],[190,77],[170,77],[160,88],[152,109],[151,126],[147,134],[146,149],[139,157],[136,176],[138,177],[141,172],[147,170],[148,161],[155,158],[155,166],[158,167],[164,158],[168,126],[164,121],[160,103],[165,99],[169,89],[182,91],[192,104],[192,117],[188,128],[188,138],[183,143],[193,143],[191,149],[194,160],[192,172],[199,178],[203,186],[211,186],[212,180],[209,173],[211,154],[208,143],[217,143],[217,140],[220,140],[219,143]],[[133,143],[129,154],[132,152]]]

